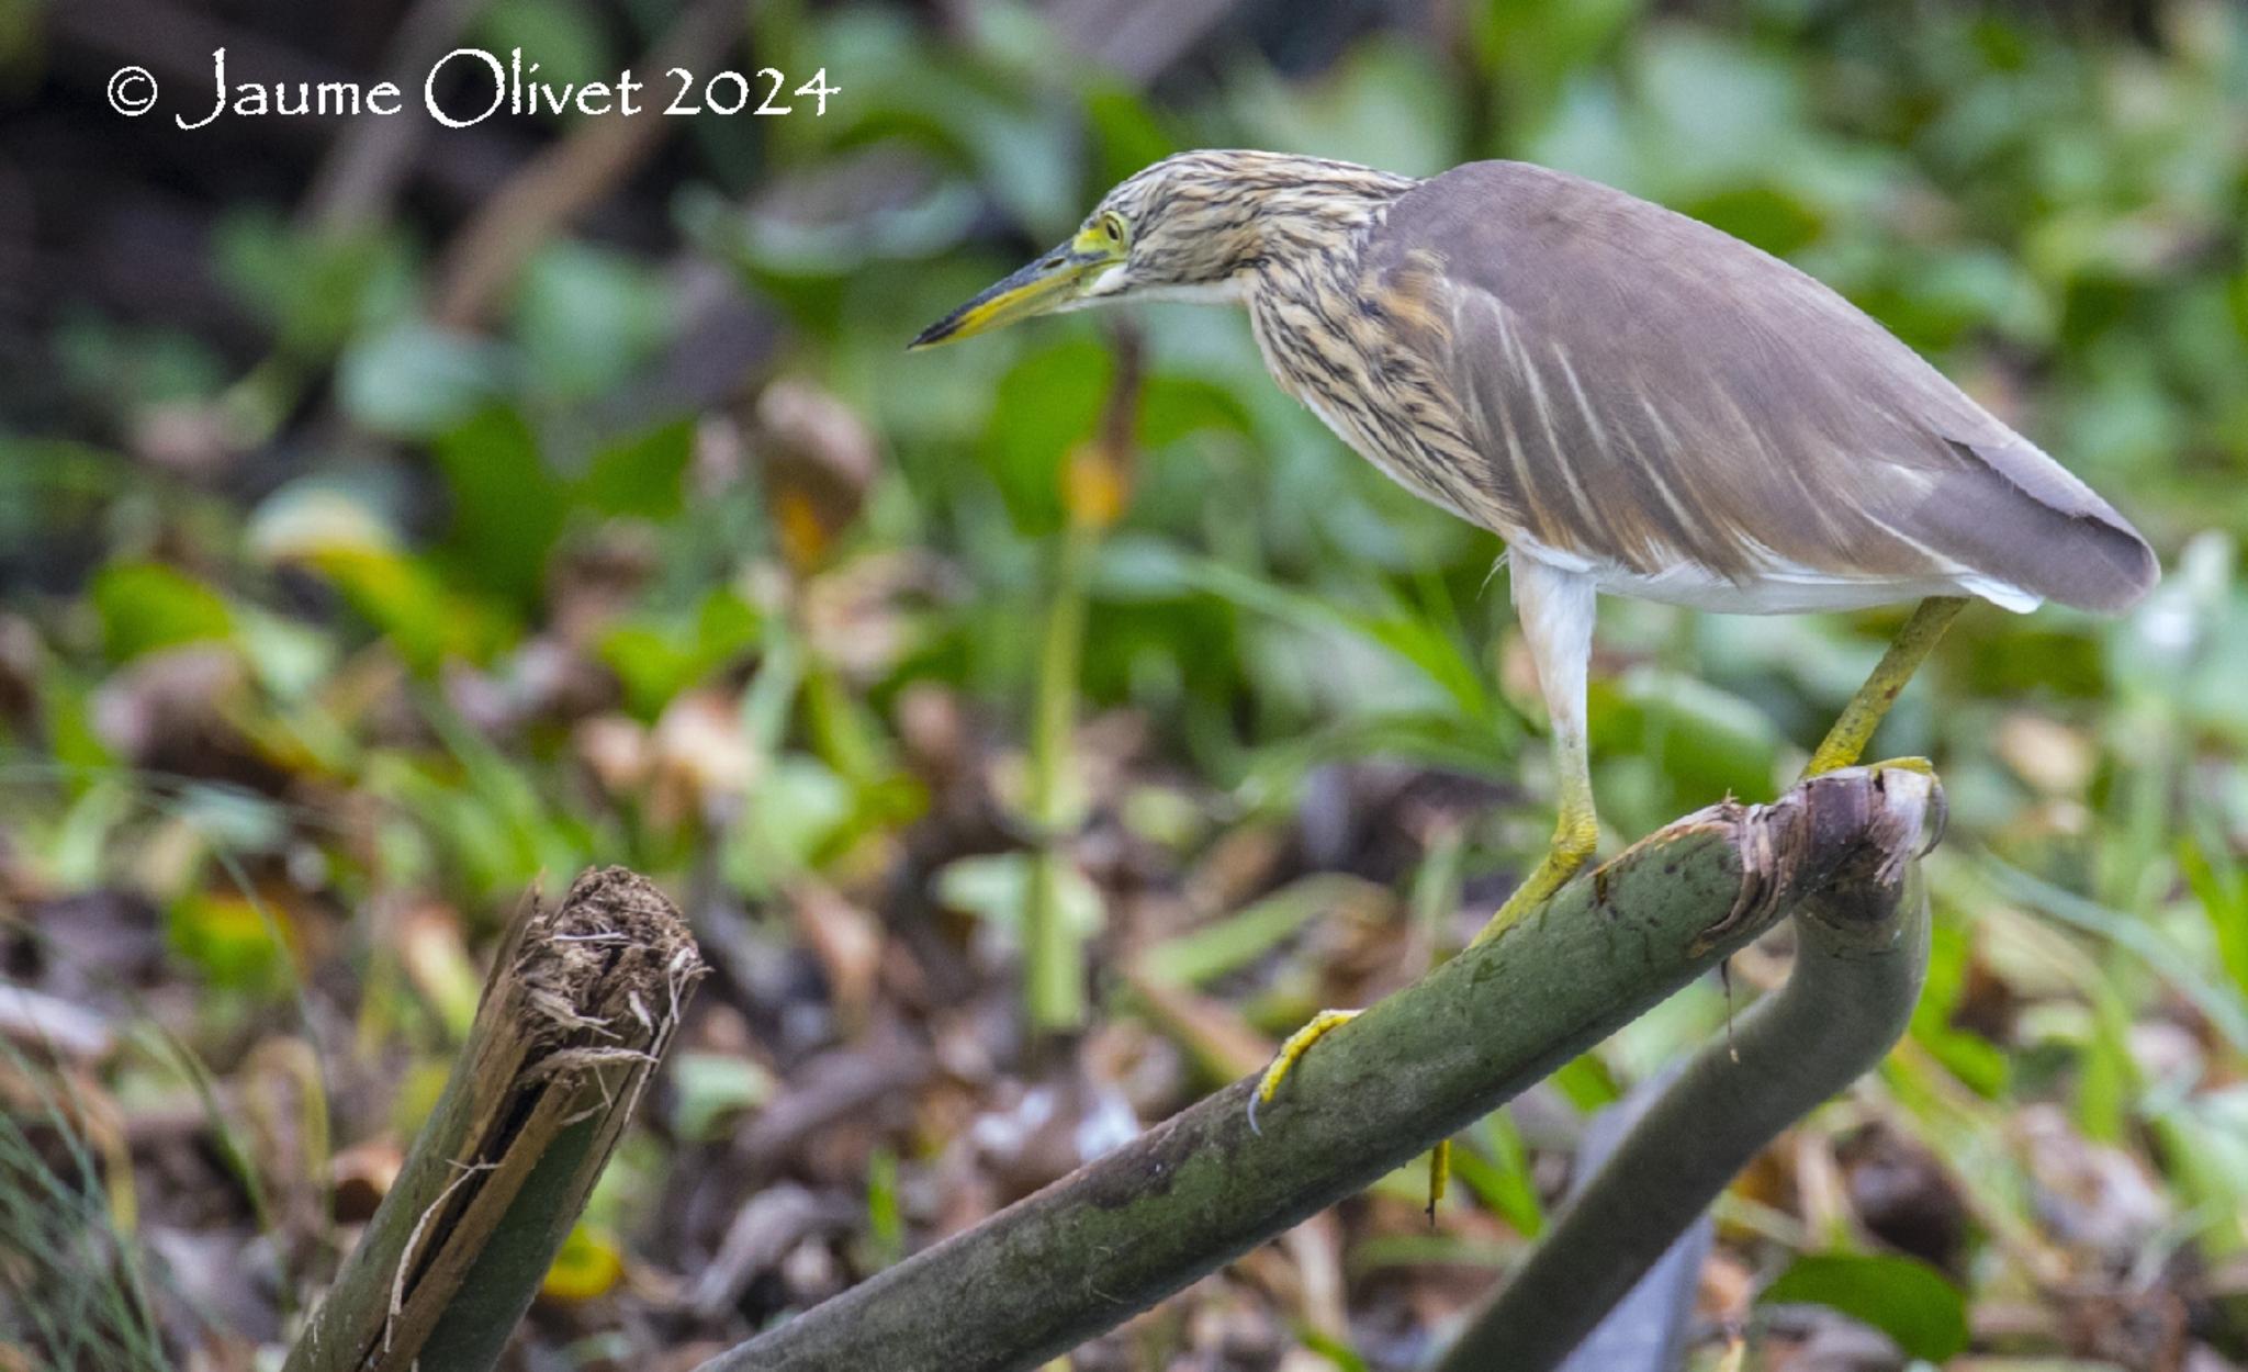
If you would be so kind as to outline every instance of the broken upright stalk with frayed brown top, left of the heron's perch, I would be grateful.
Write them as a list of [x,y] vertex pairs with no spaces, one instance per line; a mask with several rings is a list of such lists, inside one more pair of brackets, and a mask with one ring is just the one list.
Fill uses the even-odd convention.
[[679,1028],[695,942],[647,879],[589,870],[515,918],[436,1111],[285,1372],[483,1372]]

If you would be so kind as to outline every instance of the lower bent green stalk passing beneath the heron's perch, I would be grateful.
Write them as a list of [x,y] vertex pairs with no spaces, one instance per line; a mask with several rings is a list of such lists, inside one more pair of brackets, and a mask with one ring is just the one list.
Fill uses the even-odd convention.
[[[1913,774],[1884,776],[1902,792]],[[1803,900],[1787,985],[1648,1107],[1436,1372],[1560,1365],[1780,1129],[1882,1062],[1929,969],[1929,900],[1909,873]]]

